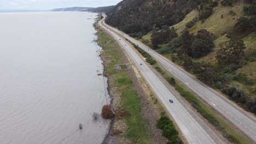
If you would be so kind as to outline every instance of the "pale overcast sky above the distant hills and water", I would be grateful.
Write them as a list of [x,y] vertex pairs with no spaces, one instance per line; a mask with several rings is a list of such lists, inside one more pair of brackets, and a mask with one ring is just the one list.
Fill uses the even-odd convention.
[[0,9],[49,10],[66,7],[104,7],[121,0],[0,0]]

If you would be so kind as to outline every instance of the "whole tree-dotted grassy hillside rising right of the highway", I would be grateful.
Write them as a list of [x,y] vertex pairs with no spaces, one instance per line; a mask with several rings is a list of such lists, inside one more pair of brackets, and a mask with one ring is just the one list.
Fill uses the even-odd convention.
[[256,114],[256,1],[123,1],[106,22]]

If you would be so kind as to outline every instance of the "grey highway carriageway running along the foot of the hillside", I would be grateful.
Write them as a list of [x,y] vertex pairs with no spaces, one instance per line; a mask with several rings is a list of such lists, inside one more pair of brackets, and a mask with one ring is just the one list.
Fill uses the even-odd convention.
[[[106,15],[104,15],[106,17]],[[158,61],[162,67],[164,67],[169,73],[171,73],[176,79],[184,83],[191,91],[199,95],[208,105],[212,106],[217,112],[228,119],[229,122],[234,124],[238,129],[250,137],[254,142],[256,142],[256,120],[253,116],[249,115],[246,111],[242,110],[236,104],[232,103],[229,99],[225,98],[222,94],[214,91],[212,88],[206,86],[201,81],[195,79],[187,71],[179,68],[176,64],[172,63],[170,60],[159,55],[155,51],[149,49],[148,46],[140,43],[139,41],[129,37],[129,35],[118,29],[107,25],[103,21],[104,26],[112,30],[115,33],[123,36],[124,38],[130,40],[132,43],[138,45],[144,51],[148,52],[152,57]]]

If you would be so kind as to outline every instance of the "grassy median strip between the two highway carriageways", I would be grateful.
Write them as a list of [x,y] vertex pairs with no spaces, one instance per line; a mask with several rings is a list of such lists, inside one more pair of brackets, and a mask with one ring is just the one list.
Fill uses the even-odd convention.
[[[152,58],[150,55],[148,56],[147,52],[135,44],[132,45],[135,46],[135,49],[137,49],[143,57]],[[181,94],[182,97],[184,97],[191,104],[191,106],[193,106],[194,109],[201,114],[201,116],[203,116],[209,123],[219,130],[228,141],[231,143],[252,143],[252,141],[249,140],[248,137],[245,136],[241,131],[236,130],[228,121],[226,121],[226,119],[219,116],[210,108],[210,106],[203,103],[199,98],[196,97],[196,95],[191,93],[186,87],[176,81],[169,73],[166,73],[166,70],[159,67],[157,63],[154,63],[153,65],[155,66],[154,68],[168,81],[168,83],[174,86],[179,94]]]

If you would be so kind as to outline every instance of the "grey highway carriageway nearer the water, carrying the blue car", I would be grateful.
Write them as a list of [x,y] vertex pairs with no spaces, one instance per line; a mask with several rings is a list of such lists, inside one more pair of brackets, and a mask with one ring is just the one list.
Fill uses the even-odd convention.
[[[148,67],[147,63],[134,48],[130,46],[129,42],[123,40],[119,34],[114,33],[109,28],[102,25],[102,23],[104,23],[104,19],[98,22],[98,25],[111,34],[124,49],[127,56],[129,56],[136,68],[141,72],[148,85],[153,89],[162,105],[165,106],[167,112],[173,117],[174,122],[182,131],[188,143],[224,143],[214,134],[207,124]],[[172,99],[174,103],[170,103],[170,99]]]

